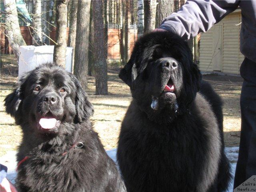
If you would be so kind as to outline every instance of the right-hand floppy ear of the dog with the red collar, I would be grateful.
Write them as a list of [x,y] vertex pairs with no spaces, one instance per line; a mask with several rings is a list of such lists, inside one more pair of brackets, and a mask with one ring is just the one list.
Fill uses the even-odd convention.
[[72,75],[72,79],[76,85],[76,121],[82,122],[83,120],[89,118],[94,113],[94,108],[92,104],[87,99],[87,94],[83,90],[80,82]]

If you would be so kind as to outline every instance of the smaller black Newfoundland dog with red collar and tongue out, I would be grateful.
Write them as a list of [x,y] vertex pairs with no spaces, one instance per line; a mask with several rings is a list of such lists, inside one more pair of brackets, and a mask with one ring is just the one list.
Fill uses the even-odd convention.
[[93,106],[74,75],[55,64],[25,74],[5,99],[23,131],[19,192],[123,192],[124,182],[89,117]]

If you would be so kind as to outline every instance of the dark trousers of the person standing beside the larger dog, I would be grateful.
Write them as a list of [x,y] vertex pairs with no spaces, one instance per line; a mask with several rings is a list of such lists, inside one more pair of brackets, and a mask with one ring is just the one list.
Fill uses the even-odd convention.
[[242,124],[234,188],[256,175],[256,63],[245,58],[240,74],[244,79],[240,97]]

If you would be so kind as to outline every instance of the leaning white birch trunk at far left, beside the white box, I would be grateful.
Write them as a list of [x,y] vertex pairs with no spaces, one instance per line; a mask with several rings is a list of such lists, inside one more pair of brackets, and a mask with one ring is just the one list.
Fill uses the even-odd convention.
[[12,52],[16,56],[17,61],[19,61],[19,47],[22,45],[26,45],[26,43],[20,33],[16,1],[4,0],[4,6],[6,12],[5,35],[8,38],[8,42],[12,48]]

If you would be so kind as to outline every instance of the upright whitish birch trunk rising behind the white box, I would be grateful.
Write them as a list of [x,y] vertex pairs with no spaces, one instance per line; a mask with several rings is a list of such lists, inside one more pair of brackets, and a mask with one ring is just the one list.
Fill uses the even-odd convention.
[[42,25],[41,25],[41,0],[33,0],[33,38],[34,46],[42,45]]

